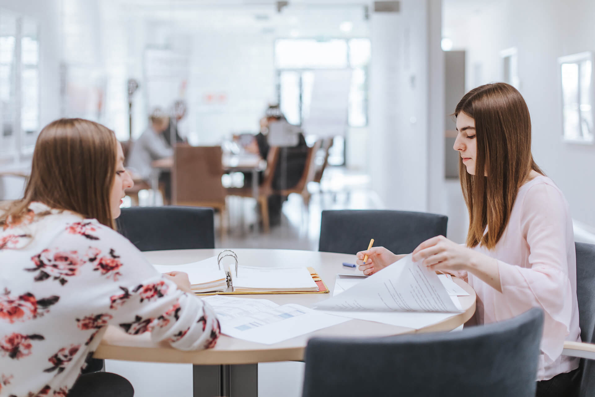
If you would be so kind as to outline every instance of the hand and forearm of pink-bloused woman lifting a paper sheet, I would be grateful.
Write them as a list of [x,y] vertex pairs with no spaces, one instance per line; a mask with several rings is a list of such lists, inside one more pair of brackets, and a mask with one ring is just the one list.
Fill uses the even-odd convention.
[[443,273],[469,271],[485,283],[502,292],[498,261],[481,252],[450,241],[444,236],[425,240],[414,249],[412,260],[430,270]]

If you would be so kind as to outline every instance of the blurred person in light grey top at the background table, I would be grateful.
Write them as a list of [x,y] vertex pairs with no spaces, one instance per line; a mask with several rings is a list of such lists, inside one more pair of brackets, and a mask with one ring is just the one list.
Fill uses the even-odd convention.
[[[156,108],[151,117],[151,124],[145,132],[132,143],[128,156],[129,167],[140,179],[149,180],[153,172],[151,163],[162,158],[173,157],[174,150],[165,140],[164,133],[170,126],[170,118],[161,109]],[[164,187],[164,202],[171,200],[171,173],[159,173],[159,185]]]

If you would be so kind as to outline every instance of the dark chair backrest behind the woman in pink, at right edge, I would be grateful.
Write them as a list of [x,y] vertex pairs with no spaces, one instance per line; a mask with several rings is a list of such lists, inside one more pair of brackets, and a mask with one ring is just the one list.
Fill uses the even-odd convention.
[[[595,343],[595,245],[575,243],[577,250],[578,322],[581,340]],[[595,393],[595,362],[581,358],[578,390],[581,397]]]

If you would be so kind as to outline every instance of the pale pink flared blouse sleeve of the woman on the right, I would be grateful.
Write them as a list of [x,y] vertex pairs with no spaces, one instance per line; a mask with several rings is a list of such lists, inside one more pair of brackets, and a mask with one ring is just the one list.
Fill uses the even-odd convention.
[[[521,231],[529,248],[529,267],[498,261],[500,283],[512,315],[531,307],[544,311],[541,351],[546,363],[562,354],[570,332],[572,287],[568,278],[568,211],[555,187],[530,187],[522,204]],[[521,237],[521,236],[519,236]],[[571,239],[572,240],[572,239]]]

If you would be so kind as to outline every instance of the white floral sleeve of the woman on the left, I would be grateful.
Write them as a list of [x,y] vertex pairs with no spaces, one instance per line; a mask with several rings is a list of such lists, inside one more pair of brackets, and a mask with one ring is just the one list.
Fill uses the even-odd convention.
[[55,242],[85,247],[84,254],[77,254],[82,263],[77,285],[93,296],[93,305],[77,319],[80,329],[112,324],[131,335],[150,332],[154,342],[166,341],[181,350],[215,345],[220,325],[212,308],[177,289],[119,233],[86,221],[68,227]]

